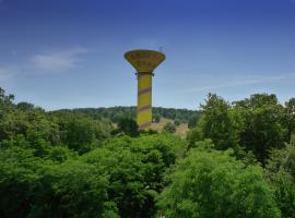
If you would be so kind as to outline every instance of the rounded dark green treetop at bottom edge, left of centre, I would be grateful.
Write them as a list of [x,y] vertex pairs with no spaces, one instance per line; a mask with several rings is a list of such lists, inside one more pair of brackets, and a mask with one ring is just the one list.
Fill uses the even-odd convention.
[[50,190],[37,198],[33,217],[119,217],[116,204],[108,201],[108,177],[99,167],[69,160],[49,168],[43,180]]

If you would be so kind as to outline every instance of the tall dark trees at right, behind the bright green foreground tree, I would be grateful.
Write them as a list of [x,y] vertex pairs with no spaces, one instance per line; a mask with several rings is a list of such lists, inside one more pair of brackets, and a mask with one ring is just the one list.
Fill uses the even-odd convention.
[[[291,100],[292,101],[292,100]],[[294,108],[279,104],[275,95],[257,94],[229,104],[209,94],[201,106],[204,116],[189,133],[193,143],[211,138],[216,149],[244,148],[252,152],[263,165],[272,148],[282,148],[294,134]]]

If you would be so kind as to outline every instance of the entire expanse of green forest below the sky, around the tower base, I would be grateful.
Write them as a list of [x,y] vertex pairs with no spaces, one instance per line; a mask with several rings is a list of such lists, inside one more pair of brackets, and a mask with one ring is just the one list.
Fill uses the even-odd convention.
[[295,98],[200,108],[154,108],[190,123],[180,138],[139,131],[134,107],[46,111],[0,88],[0,217],[295,217]]

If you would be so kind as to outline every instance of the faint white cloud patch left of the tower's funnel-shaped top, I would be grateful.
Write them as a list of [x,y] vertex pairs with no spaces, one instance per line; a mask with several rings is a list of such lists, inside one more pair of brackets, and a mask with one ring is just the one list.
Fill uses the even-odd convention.
[[88,52],[85,48],[73,48],[57,52],[38,53],[31,58],[28,68],[43,72],[56,73],[69,71],[79,65],[81,55]]

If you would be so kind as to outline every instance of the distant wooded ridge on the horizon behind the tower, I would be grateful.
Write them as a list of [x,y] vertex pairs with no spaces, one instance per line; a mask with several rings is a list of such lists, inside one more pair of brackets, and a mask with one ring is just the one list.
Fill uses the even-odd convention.
[[[135,119],[137,107],[111,107],[111,108],[78,108],[62,109],[58,111],[72,111],[87,114],[97,120],[109,119],[114,123],[118,123],[122,118]],[[176,123],[189,123],[189,126],[196,125],[201,117],[201,111],[175,108],[153,108],[153,121],[158,122],[162,118],[174,120]]]

